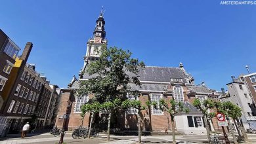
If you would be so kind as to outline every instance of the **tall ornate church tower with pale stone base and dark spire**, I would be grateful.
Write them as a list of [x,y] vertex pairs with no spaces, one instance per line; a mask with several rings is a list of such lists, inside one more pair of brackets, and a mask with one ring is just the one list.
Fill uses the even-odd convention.
[[85,71],[85,67],[94,60],[98,60],[100,57],[100,50],[102,49],[102,45],[107,45],[106,31],[105,31],[105,20],[104,20],[104,12],[103,8],[100,11],[100,16],[96,20],[95,30],[93,31],[93,38],[89,39],[87,42],[87,50],[84,58],[83,69],[80,71],[79,76],[82,77],[81,73]]

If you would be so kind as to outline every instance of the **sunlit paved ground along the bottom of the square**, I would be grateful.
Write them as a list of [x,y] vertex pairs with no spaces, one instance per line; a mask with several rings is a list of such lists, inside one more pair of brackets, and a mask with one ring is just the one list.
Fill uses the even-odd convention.
[[[100,134],[99,137],[92,137],[91,139],[73,139],[72,132],[66,132],[64,136],[64,142],[70,144],[81,144],[81,143],[102,143],[102,144],[135,144],[138,143],[137,136],[116,136],[111,135],[110,141],[106,141],[106,135]],[[256,134],[248,134],[249,139],[256,144]],[[37,143],[37,144],[51,144],[58,143],[60,137],[54,137],[49,133],[45,134],[28,134],[25,139],[21,139],[20,135],[9,135],[0,139],[0,144],[16,144],[16,143]],[[207,143],[206,135],[177,135],[178,143]],[[229,137],[231,140],[232,137]],[[172,141],[171,135],[154,135],[154,136],[142,136],[142,143],[170,143]]]

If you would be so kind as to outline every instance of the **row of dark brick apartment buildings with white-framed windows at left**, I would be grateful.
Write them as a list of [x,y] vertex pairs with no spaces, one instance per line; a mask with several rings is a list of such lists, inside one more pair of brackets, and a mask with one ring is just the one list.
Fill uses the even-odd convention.
[[[7,39],[6,43],[3,45],[3,52],[9,47],[15,47],[15,50],[20,50],[10,39]],[[32,46],[32,43],[27,43],[21,56],[17,56],[18,52],[15,50],[11,52],[12,58],[16,60],[10,60],[12,64],[8,72],[9,80],[4,83],[5,87],[2,90],[2,96],[5,101],[3,101],[3,106],[0,109],[1,136],[20,132],[20,128],[22,128],[25,122],[35,121],[37,128],[43,128],[47,124],[53,123],[53,120],[49,120],[48,116],[50,112],[53,113],[52,109],[58,106],[55,103],[56,88],[58,86],[51,88],[46,77],[41,76],[40,73],[35,71],[35,65],[26,63]],[[9,54],[8,52],[9,49],[7,54]],[[1,60],[1,62],[3,61]],[[0,67],[3,67],[3,65],[7,65],[7,63],[0,63]],[[4,72],[6,73],[5,69]],[[53,103],[51,103],[52,101]],[[51,117],[56,116],[52,114]],[[47,124],[45,124],[46,121]]]

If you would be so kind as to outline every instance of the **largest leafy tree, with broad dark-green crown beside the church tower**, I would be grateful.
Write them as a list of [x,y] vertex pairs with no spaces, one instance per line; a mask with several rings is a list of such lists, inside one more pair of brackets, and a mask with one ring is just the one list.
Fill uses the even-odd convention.
[[[121,48],[102,46],[98,60],[89,63],[86,72],[92,76],[87,81],[81,81],[78,93],[93,94],[99,103],[113,102],[118,98],[124,101],[129,91],[129,82],[140,85],[139,71],[145,65],[136,58],[131,58],[131,52]],[[129,73],[129,75],[127,74]],[[113,111],[108,117],[108,134]],[[108,141],[109,141],[108,136]]]

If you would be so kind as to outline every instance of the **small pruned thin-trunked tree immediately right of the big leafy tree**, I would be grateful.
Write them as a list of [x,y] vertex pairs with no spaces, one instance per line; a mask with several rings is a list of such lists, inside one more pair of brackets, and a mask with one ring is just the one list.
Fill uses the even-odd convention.
[[142,105],[141,101],[139,100],[139,92],[133,92],[133,94],[131,94],[131,96],[135,96],[135,100],[130,100],[130,99],[126,99],[125,101],[123,101],[122,103],[122,108],[123,109],[128,109],[130,107],[134,107],[135,109],[138,110],[138,115],[137,115],[137,118],[138,118],[138,139],[139,139],[139,143],[141,143],[141,117],[142,116],[142,113],[141,111],[142,110],[145,110],[145,109],[150,109],[150,101],[146,101],[146,105]]

